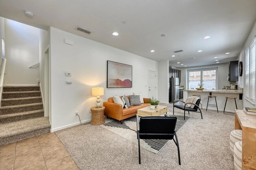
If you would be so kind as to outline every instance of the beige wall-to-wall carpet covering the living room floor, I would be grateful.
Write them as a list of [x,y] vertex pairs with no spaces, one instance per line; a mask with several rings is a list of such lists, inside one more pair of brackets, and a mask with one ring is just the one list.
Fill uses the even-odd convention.
[[[172,113],[172,106],[169,105]],[[175,109],[175,115],[182,115]],[[81,170],[233,170],[229,150],[229,134],[234,116],[202,110],[190,112],[190,119],[177,132],[181,165],[177,148],[169,141],[158,154],[141,148],[101,126],[79,125],[56,132]]]

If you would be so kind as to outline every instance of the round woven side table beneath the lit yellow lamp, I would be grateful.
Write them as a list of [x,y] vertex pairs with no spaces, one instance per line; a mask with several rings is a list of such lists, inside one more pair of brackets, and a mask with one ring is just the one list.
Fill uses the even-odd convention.
[[105,110],[104,106],[102,106],[101,108],[96,108],[96,107],[91,108],[91,124],[92,125],[100,125],[105,123],[104,110]]

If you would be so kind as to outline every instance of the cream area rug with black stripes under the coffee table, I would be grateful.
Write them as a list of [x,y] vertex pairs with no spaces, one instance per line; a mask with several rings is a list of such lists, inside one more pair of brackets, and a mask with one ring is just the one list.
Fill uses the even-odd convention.
[[[186,119],[184,121],[184,117],[180,115],[172,115],[168,114],[171,117],[177,117],[177,123],[175,130],[178,131],[185,122],[190,118],[186,116]],[[161,115],[164,116],[164,115]],[[137,140],[137,120],[136,116],[125,119],[123,121],[123,124],[121,124],[120,121],[116,121],[114,119],[106,119],[106,122],[102,125],[103,128],[106,128],[107,130],[116,133],[117,135],[123,137],[124,139],[138,144]],[[163,146],[168,142],[169,140],[160,140],[160,139],[142,139],[141,140],[141,148],[147,149],[150,152],[153,152],[157,154]]]

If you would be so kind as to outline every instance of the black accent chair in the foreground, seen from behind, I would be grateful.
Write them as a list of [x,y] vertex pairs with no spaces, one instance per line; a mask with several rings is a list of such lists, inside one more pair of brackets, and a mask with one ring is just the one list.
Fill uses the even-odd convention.
[[[180,165],[180,148],[175,131],[177,117],[141,117],[137,114],[137,139],[139,146],[139,164],[141,164],[140,139],[169,139],[174,141],[178,148]],[[176,141],[173,136],[175,136]]]

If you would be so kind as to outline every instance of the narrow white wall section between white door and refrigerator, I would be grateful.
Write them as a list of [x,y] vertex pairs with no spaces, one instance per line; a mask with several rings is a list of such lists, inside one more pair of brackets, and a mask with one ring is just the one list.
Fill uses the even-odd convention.
[[158,100],[169,103],[169,61],[158,62]]

